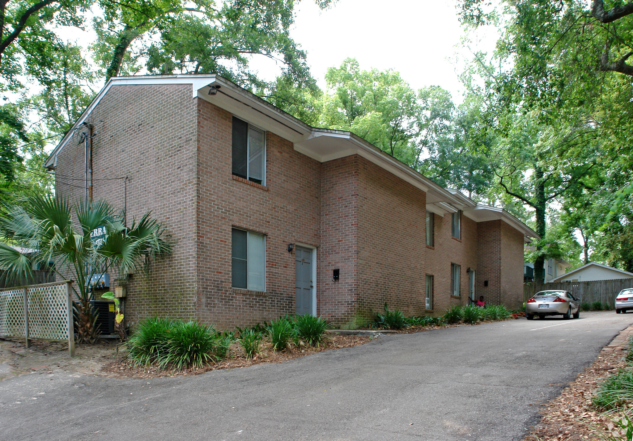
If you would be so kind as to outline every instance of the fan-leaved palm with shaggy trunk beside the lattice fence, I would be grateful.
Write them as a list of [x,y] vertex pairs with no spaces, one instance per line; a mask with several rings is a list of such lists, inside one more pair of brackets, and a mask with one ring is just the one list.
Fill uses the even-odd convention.
[[[119,278],[127,280],[141,263],[147,273],[153,258],[171,252],[171,245],[161,237],[164,229],[149,214],[127,228],[122,216],[115,216],[106,201],[71,206],[66,199],[32,197],[24,207],[10,207],[0,218],[0,266],[6,269],[8,278],[28,283],[34,264],[54,261],[53,271],[75,280],[73,309],[78,342],[92,344],[97,339],[97,317],[90,306],[94,276],[100,278],[115,270]],[[98,227],[106,230],[105,239],[99,243],[91,239]]]

